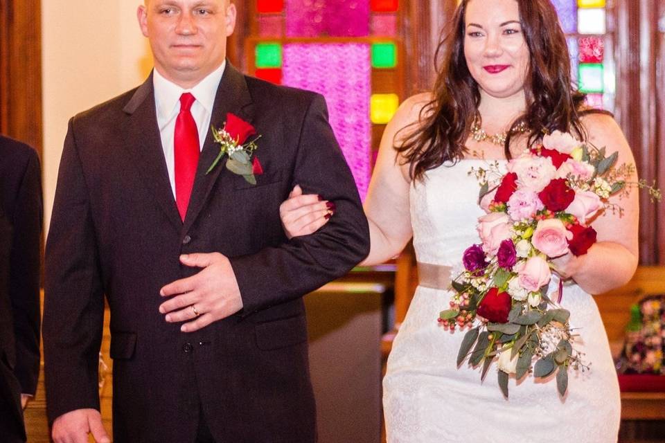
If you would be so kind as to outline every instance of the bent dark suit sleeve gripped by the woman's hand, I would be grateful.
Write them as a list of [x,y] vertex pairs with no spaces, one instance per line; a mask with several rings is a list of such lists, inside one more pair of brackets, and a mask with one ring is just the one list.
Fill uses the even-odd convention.
[[230,258],[249,315],[299,298],[350,271],[369,253],[369,226],[355,181],[328,123],[322,96],[313,95],[303,119],[292,186],[332,201],[337,212],[312,235]]

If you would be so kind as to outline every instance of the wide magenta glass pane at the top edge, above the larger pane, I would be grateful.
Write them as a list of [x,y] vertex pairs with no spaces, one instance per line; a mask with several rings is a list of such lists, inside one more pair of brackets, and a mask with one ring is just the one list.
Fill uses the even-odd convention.
[[366,37],[369,0],[287,0],[288,37]]

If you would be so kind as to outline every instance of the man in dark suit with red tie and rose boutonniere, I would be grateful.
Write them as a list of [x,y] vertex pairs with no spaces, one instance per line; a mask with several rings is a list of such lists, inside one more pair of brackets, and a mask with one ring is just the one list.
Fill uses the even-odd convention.
[[[54,440],[108,441],[105,295],[115,442],[314,442],[302,296],[369,251],[325,101],[225,60],[228,0],[148,0],[138,16],[155,69],[72,118],[62,153],[44,305]],[[206,174],[220,152],[210,125],[227,113],[260,135],[252,177],[227,156]],[[296,183],[337,213],[289,241],[279,206]]]

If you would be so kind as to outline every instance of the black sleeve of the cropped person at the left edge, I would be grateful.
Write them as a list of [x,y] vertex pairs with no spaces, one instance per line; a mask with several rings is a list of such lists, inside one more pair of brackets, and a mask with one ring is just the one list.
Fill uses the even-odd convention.
[[10,255],[10,299],[16,341],[14,373],[21,392],[34,395],[39,377],[39,266],[42,233],[42,179],[37,153],[30,149],[14,205]]

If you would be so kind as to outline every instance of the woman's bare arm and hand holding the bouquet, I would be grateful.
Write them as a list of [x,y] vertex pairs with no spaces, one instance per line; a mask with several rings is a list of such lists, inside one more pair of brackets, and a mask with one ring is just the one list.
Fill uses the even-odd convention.
[[[626,137],[612,117],[589,114],[583,118],[583,124],[590,143],[598,148],[606,147],[608,153],[619,152],[617,166],[622,163],[635,165]],[[627,179],[637,182],[637,175]],[[638,258],[638,193],[639,190],[634,188],[627,197],[610,198],[611,203],[623,208],[623,215],[620,216],[618,211],[605,211],[592,222],[598,241],[587,254],[574,257],[568,253],[554,260],[563,276],[573,278],[588,293],[603,293],[630,280]]]

